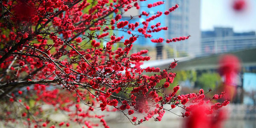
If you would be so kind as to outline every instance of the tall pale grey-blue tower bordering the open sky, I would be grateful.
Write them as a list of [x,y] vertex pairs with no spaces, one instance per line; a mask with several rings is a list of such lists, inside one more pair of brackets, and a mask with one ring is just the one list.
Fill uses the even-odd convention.
[[166,9],[179,4],[179,8],[166,16],[166,26],[169,27],[166,32],[166,38],[191,35],[189,40],[170,43],[170,45],[177,52],[187,52],[188,55],[194,55],[195,49],[200,52],[201,0],[166,0],[165,2]]

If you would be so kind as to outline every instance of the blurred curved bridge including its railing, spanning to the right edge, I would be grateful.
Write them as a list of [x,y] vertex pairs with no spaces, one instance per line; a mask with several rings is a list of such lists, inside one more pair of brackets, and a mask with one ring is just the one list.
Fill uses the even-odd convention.
[[[177,42],[179,43],[179,42]],[[172,49],[172,55],[167,50]],[[178,66],[174,70],[207,70],[217,69],[218,60],[222,55],[233,54],[236,55],[242,67],[256,66],[256,36],[233,36],[220,38],[203,38],[201,46],[193,46],[193,52],[179,55],[178,52],[184,53],[181,49],[177,49],[175,44],[171,47],[166,46],[163,49],[162,60],[156,60],[156,53],[149,53],[151,61],[144,62],[145,67],[160,67],[161,69],[168,68],[168,66],[175,60],[178,60]],[[139,49],[137,49],[139,50]],[[150,49],[152,50],[152,49]],[[179,55],[179,56],[177,56]]]

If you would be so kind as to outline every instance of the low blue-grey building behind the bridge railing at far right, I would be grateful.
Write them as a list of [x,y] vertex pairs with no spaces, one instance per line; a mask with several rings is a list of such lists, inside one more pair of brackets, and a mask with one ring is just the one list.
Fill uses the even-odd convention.
[[234,32],[233,28],[215,27],[201,32],[201,52],[198,56],[234,52],[256,47],[255,32]]

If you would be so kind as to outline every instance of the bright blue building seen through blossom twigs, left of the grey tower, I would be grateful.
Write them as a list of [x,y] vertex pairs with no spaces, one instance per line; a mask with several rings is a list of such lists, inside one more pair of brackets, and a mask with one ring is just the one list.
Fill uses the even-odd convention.
[[[141,6],[141,8],[136,9],[136,7],[132,7],[131,9],[128,9],[127,12],[124,12],[122,14],[122,19],[121,20],[129,20],[129,23],[140,22],[140,25],[138,26],[138,28],[143,28],[142,22],[146,21],[146,19],[148,17],[151,17],[152,15],[157,13],[158,11],[161,11],[161,12],[166,11],[165,4],[148,8],[148,4],[155,3],[155,2],[158,2],[158,1],[159,0],[138,1],[137,3]],[[140,14],[142,14],[143,11],[149,13],[150,15],[148,17],[142,15],[141,18],[139,18],[138,16]],[[131,16],[133,17],[132,20],[130,20]],[[156,25],[158,22],[161,23],[160,27],[166,26],[165,17],[166,17],[166,15],[163,14],[162,16],[157,17],[154,20],[151,20],[148,24],[148,28],[150,28],[151,25]],[[137,41],[134,42],[134,47],[133,47],[131,52],[135,53],[135,52],[138,52],[140,50],[148,49],[149,52],[146,55],[151,56],[151,60],[156,59],[156,57],[157,57],[157,49],[156,49],[157,43],[151,42],[151,38],[144,38],[144,35],[142,35],[140,32],[136,32],[136,31],[137,31],[137,29],[135,29],[135,31],[133,31],[133,34],[139,35],[139,38],[137,38]],[[165,36],[164,36],[165,32],[166,31],[162,30],[160,32],[152,32],[150,34],[152,35],[152,38],[154,38],[154,39],[165,38]],[[132,35],[129,35],[125,31],[117,31],[116,33],[117,33],[118,36],[125,36],[126,38],[129,38],[129,37],[132,36]],[[161,44],[165,44],[165,43],[161,43]],[[163,48],[162,48],[162,50],[163,50]],[[163,52],[159,51],[159,49],[158,49],[158,57],[163,58],[163,55],[160,55],[159,53],[163,53]]]

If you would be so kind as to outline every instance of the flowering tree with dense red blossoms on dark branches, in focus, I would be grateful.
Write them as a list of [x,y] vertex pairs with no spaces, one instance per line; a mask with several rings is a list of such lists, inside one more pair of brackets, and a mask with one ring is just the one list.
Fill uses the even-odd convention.
[[[184,109],[183,113],[175,113],[177,116],[189,116],[195,106],[220,99],[224,93],[205,99],[202,89],[199,93],[176,95],[179,85],[172,93],[165,93],[175,79],[172,69],[177,61],[165,70],[140,67],[150,57],[143,56],[147,50],[130,53],[137,38],[170,43],[189,36],[153,38],[151,32],[168,29],[160,27],[160,23],[148,26],[163,12],[143,11],[136,16],[147,18],[142,23],[134,23],[134,17],[120,21],[129,9],[140,9],[138,2],[1,0],[0,119],[6,123],[21,119],[23,124],[35,128],[69,126],[71,121],[88,128],[108,128],[104,115],[93,115],[90,111],[121,111],[132,124],[138,125],[150,118],[160,121],[165,111],[171,112],[175,107]],[[164,2],[148,4],[148,8],[161,4]],[[164,14],[169,15],[177,8],[176,4]],[[130,37],[118,37],[114,34],[117,31],[127,32]],[[123,47],[115,48],[116,44]],[[145,72],[155,74],[143,75]],[[162,79],[166,82],[156,86]],[[205,113],[211,114],[228,103],[226,100],[209,106]],[[70,122],[51,122],[43,116],[47,113],[43,105],[65,111]],[[134,113],[144,116],[139,118]],[[101,124],[93,124],[88,118],[97,118]]]

